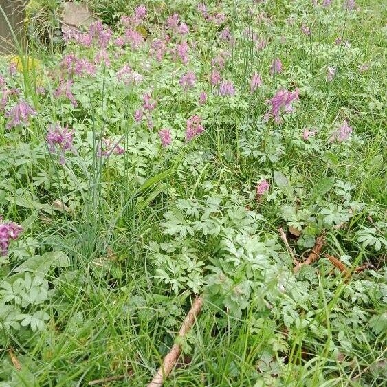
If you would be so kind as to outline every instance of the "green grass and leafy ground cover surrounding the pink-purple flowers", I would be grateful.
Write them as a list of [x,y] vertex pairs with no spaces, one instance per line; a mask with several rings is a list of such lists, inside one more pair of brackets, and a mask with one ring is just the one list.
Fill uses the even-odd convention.
[[[197,293],[195,286],[205,300],[203,311],[184,340],[184,356],[164,386],[383,386],[386,245],[375,249],[358,240],[359,232],[371,230],[373,223],[377,223],[375,238],[385,241],[386,236],[382,6],[359,1],[360,10],[347,14],[339,1],[333,1],[332,9],[318,11],[307,0],[267,2],[256,5],[256,14],[265,12],[272,22],[256,23],[248,17],[252,6],[248,1],[210,2],[210,10],[230,15],[228,25],[240,40],[250,25],[271,41],[263,51],[254,52],[251,41],[234,47],[219,43],[221,28],[199,20],[196,1],[166,1],[166,8],[159,10],[152,2],[145,3],[150,15],[146,30],[152,38],[157,37],[168,9],[176,9],[190,25],[198,41],[188,65],[197,74],[195,91],[181,91],[178,77],[187,68],[168,59],[146,73],[147,86],[138,90],[118,86],[115,71],[125,63],[143,70],[148,60],[147,49],[126,49],[124,59],[111,56],[114,70],[101,67],[95,79],[85,76],[74,82],[78,100],[74,109],[54,98],[57,79],[48,81],[45,96],[38,96],[36,74],[28,69],[19,47],[23,72],[12,82],[39,116],[12,130],[5,129],[6,118],[0,116],[0,214],[3,219],[30,223],[25,221],[25,231],[12,243],[9,262],[0,261],[0,284],[12,281],[15,269],[34,255],[43,262],[45,253],[63,251],[68,262],[53,265],[43,276],[39,272],[43,269],[29,270],[33,278],[47,281],[47,296],[43,302],[21,307],[19,313],[44,310],[49,318],[43,329],[5,327],[5,307],[19,305],[2,300],[0,294],[0,386],[85,386],[109,377],[118,379],[104,385],[146,385],[173,345]],[[49,5],[45,10],[52,16],[58,4]],[[122,1],[91,1],[90,6],[115,31],[121,14],[130,14]],[[287,25],[289,16],[296,27]],[[52,20],[46,21],[52,25]],[[312,25],[311,38],[299,32],[302,22]],[[346,49],[343,43],[338,49],[334,44],[338,36],[348,39],[351,47]],[[40,47],[35,41],[28,54],[41,58],[48,74],[58,68],[58,47]],[[204,63],[219,47],[230,49],[224,73],[239,87],[234,98],[221,98],[208,86],[210,66]],[[69,45],[65,50],[93,58],[93,48]],[[284,74],[270,76],[268,68],[276,56],[283,60]],[[357,70],[362,63],[370,64],[364,73]],[[1,69],[5,71],[7,65],[4,61]],[[338,67],[333,82],[326,81],[327,65]],[[250,96],[241,90],[248,89],[253,67],[262,75],[263,87]],[[280,88],[292,90],[296,85],[301,97],[295,112],[279,126],[272,120],[263,122],[265,100]],[[153,131],[132,118],[148,87],[155,87],[158,98]],[[206,107],[196,102],[195,92],[201,89],[208,91]],[[185,120],[195,113],[203,115],[206,131],[185,144]],[[331,144],[330,133],[345,118],[354,128],[351,140]],[[48,152],[44,140],[47,124],[56,120],[75,131],[76,153],[65,153],[64,165]],[[175,135],[168,150],[160,148],[157,136],[157,129],[166,126]],[[302,140],[305,126],[318,127],[316,139]],[[126,153],[98,157],[102,133],[116,140],[122,137]],[[262,154],[247,155],[246,148]],[[280,148],[283,152],[276,161],[260,160]],[[274,177],[278,172],[287,179],[285,188]],[[258,201],[255,186],[263,177],[270,190]],[[342,195],[336,192],[338,186],[330,186],[320,195],[313,189],[325,177],[353,188]],[[201,215],[209,208],[208,197],[219,199],[217,210],[208,215],[213,222],[210,230],[219,225],[219,235],[196,229],[193,236],[188,232],[184,237],[166,232],[164,214],[176,210],[179,199],[199,208],[200,216],[185,214],[182,222],[195,228],[195,223],[206,220]],[[55,200],[69,210],[65,206],[50,210]],[[331,204],[343,206],[349,217],[340,222],[342,228],[324,223],[321,211]],[[234,216],[236,208],[242,212],[239,218]],[[254,222],[246,208],[256,214]],[[296,220],[287,219],[289,208],[296,211]],[[302,211],[309,215],[302,217]],[[325,230],[324,252],[351,269],[366,262],[373,269],[353,273],[347,281],[322,256],[294,276],[278,228],[288,230],[295,221],[302,225],[302,236],[312,238],[312,245],[306,247],[288,234],[301,261],[313,239]],[[247,240],[239,243],[246,234]],[[272,239],[276,243],[268,248]],[[245,248],[245,256],[241,253],[236,259],[226,253],[225,241],[239,251]],[[249,241],[262,243],[262,251],[254,252]],[[157,256],[152,243],[175,245]],[[257,254],[263,257],[256,258]],[[159,280],[160,270],[176,279],[173,270],[179,271],[186,256],[192,265],[203,261],[201,283],[195,279],[196,285],[190,285],[186,269],[183,279],[178,278],[183,285],[174,291],[173,282]],[[230,257],[234,266],[221,262]],[[250,265],[253,258],[258,269]],[[226,280],[219,280],[219,288],[211,285],[220,278],[212,274],[213,267],[223,269],[230,287]],[[249,271],[253,274],[247,278]],[[246,278],[251,283],[248,291]],[[20,371],[12,364],[11,353],[21,364]]]

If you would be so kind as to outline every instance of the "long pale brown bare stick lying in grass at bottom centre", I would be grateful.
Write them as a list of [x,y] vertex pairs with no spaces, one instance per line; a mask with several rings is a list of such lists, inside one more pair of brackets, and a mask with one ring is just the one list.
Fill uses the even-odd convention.
[[[183,324],[181,324],[181,328],[179,331],[179,338],[183,338],[188,331],[192,328],[192,324],[195,322],[195,319],[199,315],[201,311],[201,306],[203,305],[203,298],[201,296],[195,299],[195,302],[192,304],[190,311],[188,312],[186,319]],[[155,377],[151,383],[148,384],[148,387],[159,387],[162,386],[164,379],[168,377],[170,371],[172,371],[175,366],[177,359],[181,353],[181,348],[179,344],[173,344],[172,349],[169,353],[164,357],[164,362],[162,366],[157,370]]]

